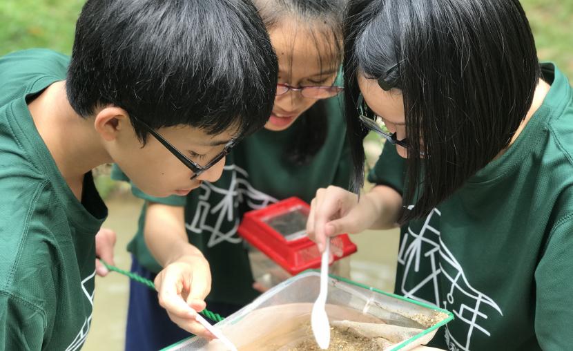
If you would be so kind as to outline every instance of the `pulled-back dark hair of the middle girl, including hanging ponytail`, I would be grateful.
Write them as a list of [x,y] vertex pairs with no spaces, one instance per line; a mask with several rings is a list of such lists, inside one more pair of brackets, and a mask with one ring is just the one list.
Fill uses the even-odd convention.
[[[300,28],[308,29],[318,49],[320,64],[334,57],[338,68],[342,62],[342,23],[347,0],[254,0],[267,30],[294,19]],[[321,52],[324,50],[325,52]],[[331,67],[327,67],[329,69]],[[285,148],[284,157],[296,166],[308,164],[320,151],[328,134],[326,100],[316,102],[300,115],[296,137]]]

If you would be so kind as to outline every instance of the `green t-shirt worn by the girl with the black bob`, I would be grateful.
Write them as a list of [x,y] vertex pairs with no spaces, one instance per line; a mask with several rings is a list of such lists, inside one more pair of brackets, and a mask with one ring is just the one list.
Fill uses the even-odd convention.
[[[507,152],[401,229],[396,293],[455,316],[436,347],[572,348],[573,91],[542,68],[551,89]],[[387,144],[369,180],[402,191],[404,171]]]

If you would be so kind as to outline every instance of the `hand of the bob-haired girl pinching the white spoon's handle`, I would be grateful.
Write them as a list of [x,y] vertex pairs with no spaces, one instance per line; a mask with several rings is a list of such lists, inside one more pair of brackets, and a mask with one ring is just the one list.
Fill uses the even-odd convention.
[[307,234],[323,252],[327,237],[359,233],[375,220],[366,197],[358,202],[355,193],[330,186],[316,191],[307,221]]

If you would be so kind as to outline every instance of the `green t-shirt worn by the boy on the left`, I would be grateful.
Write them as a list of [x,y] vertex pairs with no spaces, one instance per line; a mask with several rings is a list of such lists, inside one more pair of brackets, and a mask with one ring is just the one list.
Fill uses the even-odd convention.
[[107,209],[91,173],[75,198],[27,105],[67,66],[49,50],[0,58],[0,350],[77,350],[90,328]]

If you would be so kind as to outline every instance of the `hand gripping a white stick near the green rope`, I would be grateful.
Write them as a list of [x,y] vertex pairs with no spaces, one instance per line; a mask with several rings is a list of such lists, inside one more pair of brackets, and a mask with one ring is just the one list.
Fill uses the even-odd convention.
[[155,277],[155,289],[159,305],[179,328],[206,339],[215,338],[195,320],[197,312],[205,309],[204,298],[211,291],[211,271],[204,256],[186,255],[166,265]]

